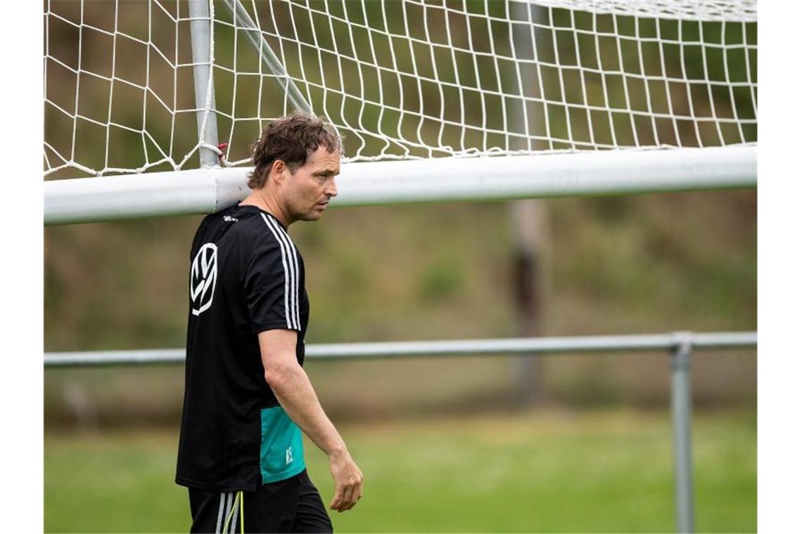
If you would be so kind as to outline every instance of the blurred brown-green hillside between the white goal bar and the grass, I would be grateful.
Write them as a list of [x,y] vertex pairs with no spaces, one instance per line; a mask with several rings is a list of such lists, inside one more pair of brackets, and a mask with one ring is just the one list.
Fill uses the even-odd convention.
[[[550,200],[543,334],[755,329],[755,200]],[[183,347],[199,220],[47,227],[46,350]],[[308,343],[516,335],[504,203],[334,210],[290,233],[307,265]],[[480,357],[307,368],[330,411],[357,417],[508,404],[516,372],[510,359]],[[559,355],[543,372],[555,403],[666,405],[664,355]],[[697,353],[695,405],[754,406],[755,373],[754,351]],[[51,370],[45,380],[49,423],[75,420],[75,388],[108,424],[180,414],[180,366]]]

